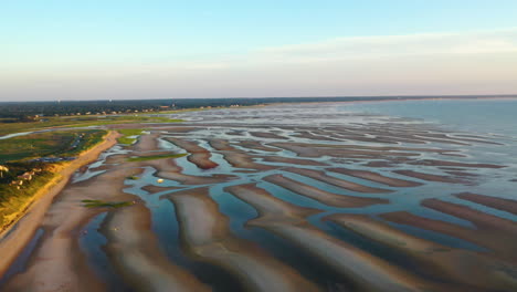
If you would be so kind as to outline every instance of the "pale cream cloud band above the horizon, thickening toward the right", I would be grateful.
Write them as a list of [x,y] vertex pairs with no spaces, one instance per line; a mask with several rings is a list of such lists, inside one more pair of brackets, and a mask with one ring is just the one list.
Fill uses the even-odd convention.
[[515,76],[513,28],[336,38],[202,62],[14,65],[0,73],[0,100],[517,93]]

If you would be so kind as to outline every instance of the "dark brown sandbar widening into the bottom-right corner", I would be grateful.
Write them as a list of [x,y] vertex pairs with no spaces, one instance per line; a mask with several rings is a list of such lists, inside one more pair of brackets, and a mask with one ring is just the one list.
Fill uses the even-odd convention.
[[421,273],[457,285],[454,291],[517,289],[517,281],[509,272],[517,268],[515,264],[416,238],[365,215],[333,215],[324,220],[403,252],[418,263],[414,268]]

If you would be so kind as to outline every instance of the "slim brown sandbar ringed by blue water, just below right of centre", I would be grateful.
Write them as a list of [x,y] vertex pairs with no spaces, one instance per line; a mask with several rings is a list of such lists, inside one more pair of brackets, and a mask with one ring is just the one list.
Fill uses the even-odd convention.
[[288,189],[293,192],[296,192],[300,196],[312,198],[319,202],[323,202],[327,206],[338,207],[338,208],[359,208],[366,207],[374,204],[388,204],[387,199],[377,199],[377,198],[361,198],[352,197],[346,195],[338,195],[329,191],[315,188],[313,186],[303,184],[291,178],[286,178],[283,175],[272,175],[263,178],[263,180],[274,184],[276,186]]

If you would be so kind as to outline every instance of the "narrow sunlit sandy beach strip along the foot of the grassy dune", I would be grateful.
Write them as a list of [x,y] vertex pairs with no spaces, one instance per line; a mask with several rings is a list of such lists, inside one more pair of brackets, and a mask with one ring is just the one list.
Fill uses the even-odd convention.
[[[0,231],[0,254],[3,257],[0,263],[0,275],[8,270],[19,253],[25,248],[25,243],[33,237],[52,200],[68,184],[72,175],[82,166],[95,161],[103,152],[113,147],[119,136],[120,134],[116,131],[109,131],[104,137],[103,143],[82,153],[77,159],[65,165],[59,170],[59,175],[55,178],[49,181],[28,201],[15,219]],[[23,228],[14,228],[19,225],[23,225]]]

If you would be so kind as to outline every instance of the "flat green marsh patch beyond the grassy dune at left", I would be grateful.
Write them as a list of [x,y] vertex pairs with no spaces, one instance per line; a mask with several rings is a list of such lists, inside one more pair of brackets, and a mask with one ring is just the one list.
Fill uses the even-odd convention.
[[40,157],[72,157],[103,142],[106,131],[52,131],[3,139],[0,163]]

